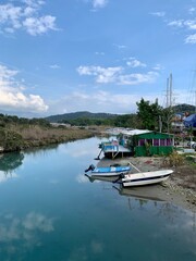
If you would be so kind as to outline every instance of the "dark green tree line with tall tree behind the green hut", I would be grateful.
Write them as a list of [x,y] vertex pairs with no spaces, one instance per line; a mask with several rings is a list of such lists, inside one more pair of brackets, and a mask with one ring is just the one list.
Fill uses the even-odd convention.
[[167,130],[170,125],[173,109],[163,109],[159,105],[158,100],[155,102],[140,99],[137,104],[137,112],[131,114],[115,115],[106,117],[86,117],[61,120],[59,123],[65,123],[77,126],[113,126],[126,128],[142,128],[149,130]]

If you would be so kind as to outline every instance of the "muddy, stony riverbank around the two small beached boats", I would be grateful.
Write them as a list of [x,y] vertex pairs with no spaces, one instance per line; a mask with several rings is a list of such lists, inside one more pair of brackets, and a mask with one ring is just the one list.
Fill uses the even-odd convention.
[[[142,198],[159,199],[196,212],[196,165],[189,161],[184,161],[182,165],[168,166],[166,158],[162,157],[138,157],[123,159],[102,159],[99,164],[110,163],[127,164],[132,162],[143,172],[156,171],[160,169],[172,169],[172,175],[167,182],[152,186],[126,188],[121,194]],[[132,171],[133,173],[135,170]]]

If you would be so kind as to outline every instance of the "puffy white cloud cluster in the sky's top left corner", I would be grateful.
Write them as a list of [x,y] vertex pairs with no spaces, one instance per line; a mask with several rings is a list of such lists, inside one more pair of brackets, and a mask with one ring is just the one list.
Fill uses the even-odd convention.
[[44,3],[45,1],[23,0],[21,5],[0,4],[0,30],[13,34],[24,29],[33,36],[57,30],[54,16],[39,15]]

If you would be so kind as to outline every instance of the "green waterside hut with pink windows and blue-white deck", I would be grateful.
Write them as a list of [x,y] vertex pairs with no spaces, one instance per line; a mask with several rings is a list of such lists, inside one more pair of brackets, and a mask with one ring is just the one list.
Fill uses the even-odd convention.
[[115,139],[100,144],[99,156],[101,152],[111,159],[126,156],[168,156],[173,151],[173,134],[148,129],[121,129]]

